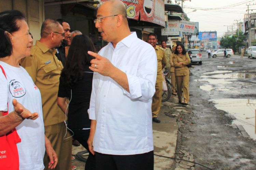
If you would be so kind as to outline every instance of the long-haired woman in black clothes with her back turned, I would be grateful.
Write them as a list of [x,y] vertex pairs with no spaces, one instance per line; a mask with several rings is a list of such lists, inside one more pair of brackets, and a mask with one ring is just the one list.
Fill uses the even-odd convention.
[[[95,47],[86,35],[76,35],[69,48],[66,65],[60,75],[58,105],[68,115],[68,128],[73,131],[74,138],[88,149],[87,140],[90,134],[88,108],[91,97],[93,71],[89,69],[93,59],[87,51]],[[66,99],[69,99],[69,104]],[[68,109],[67,109],[68,108]],[[89,152],[85,170],[96,169],[95,156]]]

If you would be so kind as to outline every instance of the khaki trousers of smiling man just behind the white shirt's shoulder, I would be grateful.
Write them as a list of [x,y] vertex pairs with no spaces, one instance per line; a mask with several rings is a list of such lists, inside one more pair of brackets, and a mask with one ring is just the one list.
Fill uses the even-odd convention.
[[155,88],[156,88],[156,92],[153,96],[153,101],[152,101],[152,117],[157,117],[161,108],[162,82],[156,83]]

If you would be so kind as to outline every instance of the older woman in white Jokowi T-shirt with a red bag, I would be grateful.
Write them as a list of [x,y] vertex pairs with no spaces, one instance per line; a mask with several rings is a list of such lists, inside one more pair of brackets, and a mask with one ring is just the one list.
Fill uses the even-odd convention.
[[0,39],[0,147],[8,154],[2,159],[6,164],[0,160],[0,169],[44,169],[45,151],[50,157],[48,168],[53,169],[58,159],[44,135],[41,94],[27,71],[19,66],[21,58],[30,56],[32,46],[21,12],[0,13]]

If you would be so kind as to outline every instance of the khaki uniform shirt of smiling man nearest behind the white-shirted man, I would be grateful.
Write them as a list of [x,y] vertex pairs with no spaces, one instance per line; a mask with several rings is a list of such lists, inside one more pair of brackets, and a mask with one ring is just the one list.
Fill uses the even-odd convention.
[[162,76],[162,64],[167,64],[167,59],[165,56],[165,51],[162,47],[156,46],[156,56],[157,56],[157,77],[156,77],[156,83],[163,81]]

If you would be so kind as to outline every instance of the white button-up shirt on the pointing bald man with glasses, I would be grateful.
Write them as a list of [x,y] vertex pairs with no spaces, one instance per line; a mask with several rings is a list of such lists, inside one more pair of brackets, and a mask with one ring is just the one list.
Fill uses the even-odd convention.
[[153,150],[152,97],[155,94],[157,57],[155,49],[133,32],[114,48],[99,51],[126,73],[130,92],[110,77],[94,72],[89,118],[97,120],[94,151],[133,155]]

